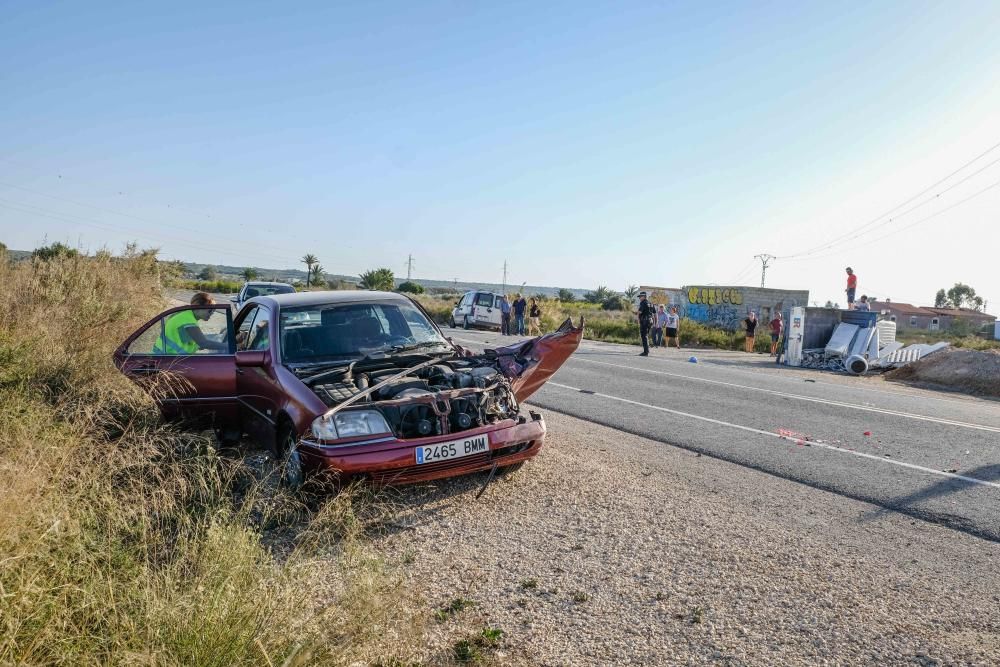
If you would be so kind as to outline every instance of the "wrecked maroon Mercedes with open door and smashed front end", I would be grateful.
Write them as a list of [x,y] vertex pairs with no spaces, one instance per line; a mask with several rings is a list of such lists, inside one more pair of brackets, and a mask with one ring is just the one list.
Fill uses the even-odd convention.
[[308,292],[251,299],[235,317],[228,305],[173,308],[132,334],[115,363],[165,417],[208,420],[225,443],[248,435],[273,449],[292,486],[310,474],[399,484],[536,455],[545,422],[521,403],[582,333],[567,320],[472,354],[406,296]]

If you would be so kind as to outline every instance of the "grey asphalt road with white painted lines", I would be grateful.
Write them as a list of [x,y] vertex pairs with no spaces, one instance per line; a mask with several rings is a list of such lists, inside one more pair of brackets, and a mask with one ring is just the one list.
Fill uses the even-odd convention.
[[[445,331],[470,348],[516,340]],[[530,403],[874,504],[861,522],[902,512],[1000,541],[1000,402],[766,355],[638,351],[584,341]]]

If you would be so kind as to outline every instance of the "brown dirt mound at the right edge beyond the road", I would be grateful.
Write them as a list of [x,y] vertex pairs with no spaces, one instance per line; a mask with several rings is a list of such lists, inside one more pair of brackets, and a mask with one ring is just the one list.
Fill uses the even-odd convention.
[[955,391],[1000,398],[1000,352],[941,350],[885,375],[888,380],[921,382]]

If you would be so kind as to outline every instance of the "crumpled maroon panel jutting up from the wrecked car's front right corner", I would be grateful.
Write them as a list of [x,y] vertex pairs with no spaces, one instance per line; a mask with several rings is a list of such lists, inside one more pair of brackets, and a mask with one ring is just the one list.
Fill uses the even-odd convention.
[[500,372],[510,379],[514,396],[519,402],[545,384],[580,346],[583,338],[583,318],[574,327],[567,319],[550,334],[496,349]]

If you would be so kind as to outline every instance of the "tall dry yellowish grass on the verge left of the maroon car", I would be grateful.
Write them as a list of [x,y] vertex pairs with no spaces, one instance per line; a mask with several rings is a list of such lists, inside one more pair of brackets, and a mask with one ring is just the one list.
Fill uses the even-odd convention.
[[417,601],[360,537],[370,500],[299,507],[269,548],[290,501],[114,369],[160,294],[149,254],[0,262],[0,664],[418,655]]

